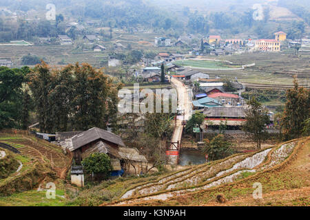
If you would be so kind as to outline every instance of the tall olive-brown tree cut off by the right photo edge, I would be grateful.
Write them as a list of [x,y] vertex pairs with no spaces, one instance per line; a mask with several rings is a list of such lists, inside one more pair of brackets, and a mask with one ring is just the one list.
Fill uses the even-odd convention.
[[282,129],[285,139],[300,137],[303,122],[310,115],[310,90],[298,86],[297,78],[293,80],[294,87],[287,90],[287,102],[282,117]]

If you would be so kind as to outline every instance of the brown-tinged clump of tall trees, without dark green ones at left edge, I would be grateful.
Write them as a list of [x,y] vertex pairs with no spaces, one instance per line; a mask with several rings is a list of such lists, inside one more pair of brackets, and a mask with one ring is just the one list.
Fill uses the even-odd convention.
[[88,64],[68,65],[51,70],[37,65],[28,74],[37,118],[42,132],[83,131],[97,126],[107,128],[111,122],[116,129],[117,91],[112,79]]

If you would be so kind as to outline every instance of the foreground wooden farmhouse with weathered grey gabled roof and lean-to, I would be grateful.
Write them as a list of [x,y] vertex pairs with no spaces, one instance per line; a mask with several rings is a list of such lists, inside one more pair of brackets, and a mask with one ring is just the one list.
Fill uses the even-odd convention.
[[[63,134],[59,133],[59,135]],[[105,153],[109,155],[114,171],[129,171],[130,166],[142,172],[147,169],[147,159],[140,155],[138,150],[125,147],[121,137],[96,127],[66,139],[63,146],[73,153],[76,164],[80,164],[92,153]]]

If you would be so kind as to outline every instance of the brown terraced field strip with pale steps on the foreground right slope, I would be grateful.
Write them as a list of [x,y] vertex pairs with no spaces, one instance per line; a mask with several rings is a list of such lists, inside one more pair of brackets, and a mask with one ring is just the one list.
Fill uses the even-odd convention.
[[[307,142],[309,142],[309,138]],[[304,144],[304,140],[293,140],[279,146],[262,149],[256,153],[232,155],[209,164],[192,166],[155,181],[130,188],[121,196],[116,206],[165,201],[186,195],[189,192],[207,190],[232,184],[252,175],[260,175],[287,162],[287,159]],[[308,143],[309,144],[309,143]]]

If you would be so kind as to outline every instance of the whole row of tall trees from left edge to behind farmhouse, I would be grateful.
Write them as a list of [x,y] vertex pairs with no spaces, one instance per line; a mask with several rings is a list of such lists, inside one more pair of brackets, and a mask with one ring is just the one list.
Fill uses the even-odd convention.
[[34,69],[1,67],[0,77],[0,129],[26,129],[30,111],[44,133],[116,128],[121,85],[113,85],[110,77],[87,63],[62,69],[44,62]]

